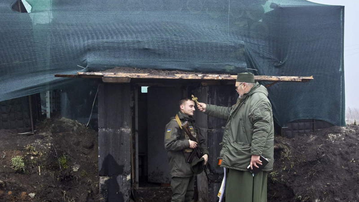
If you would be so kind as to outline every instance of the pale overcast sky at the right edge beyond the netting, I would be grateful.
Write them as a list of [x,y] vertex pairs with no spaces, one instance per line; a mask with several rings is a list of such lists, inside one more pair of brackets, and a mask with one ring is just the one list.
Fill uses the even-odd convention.
[[359,108],[359,0],[310,0],[328,5],[343,5],[344,8],[344,72],[346,107]]

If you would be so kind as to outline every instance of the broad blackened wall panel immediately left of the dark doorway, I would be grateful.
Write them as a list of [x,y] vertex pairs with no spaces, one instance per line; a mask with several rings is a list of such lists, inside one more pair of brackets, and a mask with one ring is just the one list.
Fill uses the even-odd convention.
[[103,201],[129,202],[132,92],[130,84],[101,84],[98,94],[98,166]]

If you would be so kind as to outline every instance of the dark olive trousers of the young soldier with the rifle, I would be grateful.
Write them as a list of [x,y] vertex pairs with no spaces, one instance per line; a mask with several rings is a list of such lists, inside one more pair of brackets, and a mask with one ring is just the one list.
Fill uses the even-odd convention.
[[188,178],[173,177],[171,180],[171,202],[190,202],[194,194],[195,176]]

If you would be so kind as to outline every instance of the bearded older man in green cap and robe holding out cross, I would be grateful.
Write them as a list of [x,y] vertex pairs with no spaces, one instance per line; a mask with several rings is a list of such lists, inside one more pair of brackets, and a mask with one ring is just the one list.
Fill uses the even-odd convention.
[[[239,94],[232,107],[197,104],[200,111],[227,119],[224,128],[221,166],[227,168],[226,202],[267,201],[267,176],[273,169],[274,123],[267,89],[254,81],[252,73],[239,73],[236,82]],[[253,176],[247,166],[262,165],[260,155],[269,160],[263,170]]]

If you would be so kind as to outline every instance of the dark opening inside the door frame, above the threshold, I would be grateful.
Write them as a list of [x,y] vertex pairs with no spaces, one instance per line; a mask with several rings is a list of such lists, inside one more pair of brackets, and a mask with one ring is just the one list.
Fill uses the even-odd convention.
[[138,119],[138,185],[166,186],[171,181],[167,152],[164,150],[164,127],[178,111],[183,97],[181,87],[139,87]]

